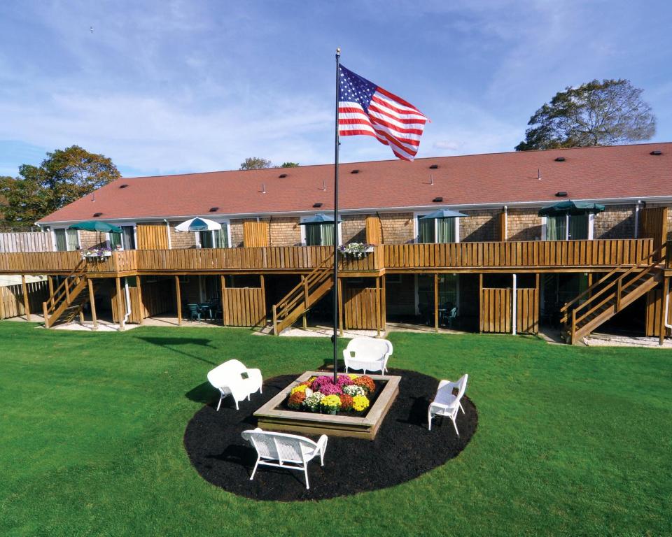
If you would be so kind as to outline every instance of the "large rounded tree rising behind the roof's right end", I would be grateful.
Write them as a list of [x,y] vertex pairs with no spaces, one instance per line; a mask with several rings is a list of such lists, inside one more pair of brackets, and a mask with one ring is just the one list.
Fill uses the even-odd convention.
[[656,132],[643,90],[629,80],[593,80],[566,87],[530,118],[517,151],[618,145],[648,140]]

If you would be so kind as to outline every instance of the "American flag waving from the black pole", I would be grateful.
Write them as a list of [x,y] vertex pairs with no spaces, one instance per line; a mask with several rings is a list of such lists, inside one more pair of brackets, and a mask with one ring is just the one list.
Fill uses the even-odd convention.
[[375,136],[400,159],[413,160],[427,117],[410,103],[339,65],[340,136]]

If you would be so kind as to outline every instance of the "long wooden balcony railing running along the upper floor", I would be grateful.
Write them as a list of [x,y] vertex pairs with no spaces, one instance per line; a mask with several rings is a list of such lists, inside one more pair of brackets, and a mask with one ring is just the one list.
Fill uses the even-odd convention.
[[[376,246],[362,259],[341,259],[343,275],[451,272],[603,271],[633,266],[653,251],[653,239],[518,241]],[[668,250],[672,250],[669,248]],[[129,250],[87,260],[95,277],[149,274],[307,273],[332,255],[328,246]],[[0,254],[0,273],[68,274],[80,252]],[[667,258],[672,268],[672,255]]]

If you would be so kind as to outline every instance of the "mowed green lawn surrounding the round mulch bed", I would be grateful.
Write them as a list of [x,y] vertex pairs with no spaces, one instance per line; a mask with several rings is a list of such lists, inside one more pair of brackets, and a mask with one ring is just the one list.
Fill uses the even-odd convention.
[[666,350],[393,334],[392,367],[469,373],[471,443],[398,487],[274,503],[202,480],[183,432],[214,364],[237,357],[266,377],[300,372],[330,355],[328,340],[36,326],[0,322],[2,536],[672,534]]

